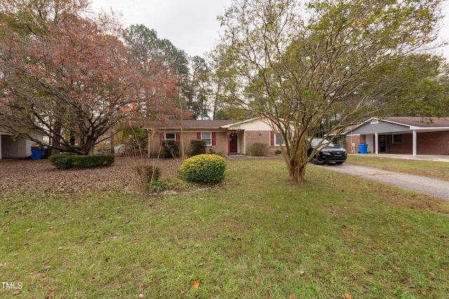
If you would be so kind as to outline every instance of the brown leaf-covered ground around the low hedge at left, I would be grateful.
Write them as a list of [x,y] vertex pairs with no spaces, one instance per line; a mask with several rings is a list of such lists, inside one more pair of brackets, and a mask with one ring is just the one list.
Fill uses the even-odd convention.
[[112,166],[60,170],[42,160],[0,160],[0,197],[36,190],[44,192],[91,192],[130,190],[135,184],[133,166],[156,164],[162,175],[178,173],[181,162],[175,159],[135,159],[116,157]]

